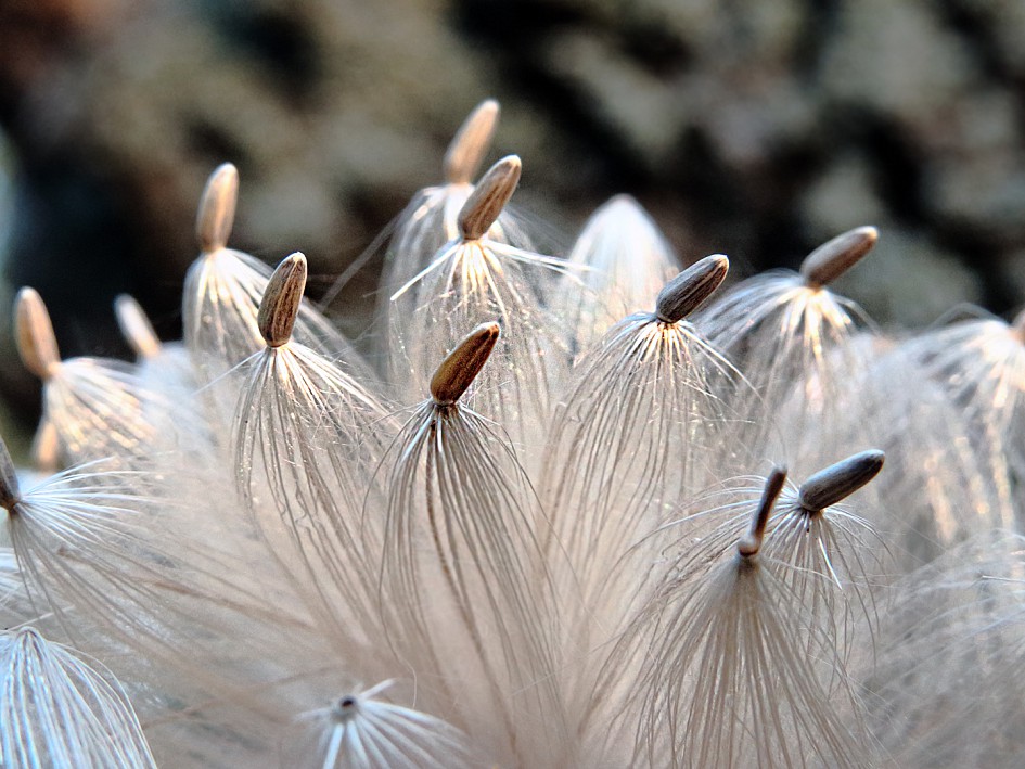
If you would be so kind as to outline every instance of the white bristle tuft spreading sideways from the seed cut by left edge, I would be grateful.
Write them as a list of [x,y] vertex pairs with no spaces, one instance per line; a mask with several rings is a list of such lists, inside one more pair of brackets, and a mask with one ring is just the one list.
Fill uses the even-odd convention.
[[[204,538],[212,524],[182,526],[163,483],[93,463],[47,478],[8,508],[4,528],[29,593],[79,645],[115,641],[183,664],[198,646],[175,639],[213,639],[213,628],[239,623],[243,602],[258,605],[260,580],[219,573],[240,555]],[[218,612],[225,616],[206,624]]]

